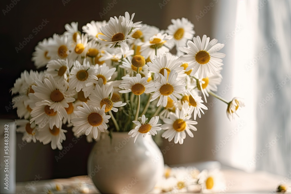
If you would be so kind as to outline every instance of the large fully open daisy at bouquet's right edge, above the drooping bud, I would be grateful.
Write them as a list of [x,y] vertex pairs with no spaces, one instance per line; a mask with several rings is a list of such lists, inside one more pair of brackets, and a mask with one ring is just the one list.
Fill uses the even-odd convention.
[[202,41],[199,36],[193,38],[193,42],[188,40],[187,47],[179,48],[187,53],[181,56],[181,60],[188,63],[186,71],[192,70],[191,76],[198,72],[198,78],[205,78],[215,75],[219,67],[223,65],[220,58],[225,57],[223,53],[218,53],[224,44],[217,43],[216,39],[209,42],[210,38],[203,35]]

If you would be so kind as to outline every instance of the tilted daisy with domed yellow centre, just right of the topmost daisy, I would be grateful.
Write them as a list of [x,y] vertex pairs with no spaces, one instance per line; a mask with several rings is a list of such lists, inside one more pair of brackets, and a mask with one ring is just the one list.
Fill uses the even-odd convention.
[[154,58],[155,54],[155,49],[157,48],[157,55],[159,54],[164,54],[166,52],[169,52],[169,49],[164,46],[166,40],[171,39],[171,36],[168,34],[164,33],[158,33],[157,35],[154,35],[153,37],[150,38],[149,41],[142,43],[141,44],[141,55],[144,56],[145,58]]

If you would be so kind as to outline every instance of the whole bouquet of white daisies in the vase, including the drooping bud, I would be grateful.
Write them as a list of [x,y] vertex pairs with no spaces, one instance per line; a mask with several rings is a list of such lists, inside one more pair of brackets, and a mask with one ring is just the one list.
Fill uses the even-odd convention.
[[227,104],[230,119],[244,106],[239,98],[228,102],[214,93],[222,79],[223,44],[194,37],[186,18],[160,30],[133,17],[126,12],[92,21],[83,33],[72,22],[63,35],[38,43],[32,60],[46,69],[24,71],[11,88],[13,108],[24,118],[17,120],[24,141],[62,149],[66,124],[88,142],[112,131],[136,139],[163,129],[162,137],[182,144],[197,130],[209,95]]

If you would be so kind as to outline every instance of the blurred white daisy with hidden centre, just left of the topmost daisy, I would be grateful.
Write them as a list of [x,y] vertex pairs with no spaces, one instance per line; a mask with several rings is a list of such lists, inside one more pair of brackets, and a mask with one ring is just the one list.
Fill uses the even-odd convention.
[[106,20],[103,20],[102,22],[91,21],[90,23],[87,23],[86,26],[83,26],[82,30],[84,33],[88,34],[89,40],[95,40],[98,42],[100,40],[98,38],[98,35],[102,34],[100,28],[106,25],[107,25]]

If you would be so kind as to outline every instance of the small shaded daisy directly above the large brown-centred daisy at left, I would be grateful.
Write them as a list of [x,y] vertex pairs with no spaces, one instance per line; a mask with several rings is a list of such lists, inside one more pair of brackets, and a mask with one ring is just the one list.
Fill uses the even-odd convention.
[[67,80],[70,75],[68,60],[58,59],[49,61],[47,73],[52,75],[57,82],[61,82],[64,79]]

